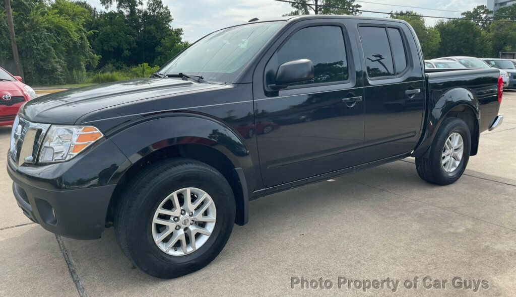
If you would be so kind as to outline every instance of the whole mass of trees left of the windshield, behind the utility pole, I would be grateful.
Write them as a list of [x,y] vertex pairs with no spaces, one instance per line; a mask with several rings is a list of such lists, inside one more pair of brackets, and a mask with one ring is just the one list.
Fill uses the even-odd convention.
[[[12,1],[20,58],[30,84],[78,83],[86,71],[162,65],[188,46],[183,30],[172,28],[162,0]],[[0,5],[0,64],[13,69],[6,11]],[[149,73],[150,74],[150,73]]]

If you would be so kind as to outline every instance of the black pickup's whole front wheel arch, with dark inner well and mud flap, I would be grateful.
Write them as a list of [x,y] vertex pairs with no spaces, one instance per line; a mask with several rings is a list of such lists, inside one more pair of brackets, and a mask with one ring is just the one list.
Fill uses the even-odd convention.
[[253,178],[252,160],[244,141],[227,125],[197,115],[174,114],[128,124],[112,133],[110,139],[130,162],[110,181],[117,186],[109,202],[106,226],[112,225],[123,189],[139,171],[160,160],[176,157],[195,159],[217,169],[233,190],[237,207],[235,223],[247,223],[247,181]]

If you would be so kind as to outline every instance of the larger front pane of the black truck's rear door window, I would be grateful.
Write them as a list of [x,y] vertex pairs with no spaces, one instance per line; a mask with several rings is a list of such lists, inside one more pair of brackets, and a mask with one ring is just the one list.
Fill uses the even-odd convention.
[[359,27],[369,77],[394,74],[391,46],[383,27]]

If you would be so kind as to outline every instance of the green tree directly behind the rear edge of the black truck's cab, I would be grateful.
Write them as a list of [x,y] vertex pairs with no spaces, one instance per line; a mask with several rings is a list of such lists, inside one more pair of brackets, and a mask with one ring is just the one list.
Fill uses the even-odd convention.
[[[412,14],[412,15],[405,15]],[[437,58],[437,50],[441,42],[439,31],[425,25],[425,19],[414,11],[395,11],[390,14],[391,19],[404,20],[409,23],[416,32],[425,58]]]

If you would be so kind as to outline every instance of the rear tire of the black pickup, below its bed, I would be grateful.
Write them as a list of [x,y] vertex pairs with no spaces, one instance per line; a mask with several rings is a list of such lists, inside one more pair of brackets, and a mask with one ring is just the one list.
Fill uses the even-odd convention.
[[[445,152],[445,143],[447,142],[448,138],[456,136],[455,134],[459,134],[462,138],[462,157],[460,158],[460,162],[458,164],[456,164],[456,162],[458,162],[457,160],[452,160],[454,165],[453,167],[448,168],[448,165],[450,165],[449,162],[443,165],[443,161],[447,157],[443,154],[450,152],[451,150]],[[417,174],[423,180],[426,180],[432,184],[442,186],[453,184],[462,176],[462,173],[464,173],[464,170],[467,166],[467,161],[470,158],[470,151],[470,128],[461,119],[447,118],[443,121],[441,127],[437,131],[437,135],[433,140],[428,158],[416,157]],[[458,152],[458,150],[455,150],[455,152]],[[451,155],[453,154],[450,154],[449,156]],[[444,168],[445,166],[447,167],[446,169]],[[454,169],[455,166],[456,168]],[[451,171],[448,172],[447,170]]]

